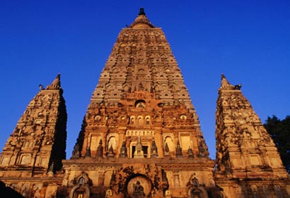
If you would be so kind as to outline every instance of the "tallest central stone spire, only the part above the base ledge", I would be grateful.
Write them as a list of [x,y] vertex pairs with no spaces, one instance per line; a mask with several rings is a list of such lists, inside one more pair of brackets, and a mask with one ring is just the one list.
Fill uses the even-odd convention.
[[[77,142],[81,156],[86,154],[86,147],[95,156],[96,145],[103,140],[104,154],[112,145],[115,156],[119,156],[126,141],[128,156],[132,157],[139,135],[146,144],[144,156],[151,156],[155,140],[156,156],[164,156],[168,143],[170,155],[175,157],[177,136],[182,155],[187,156],[190,147],[195,156],[200,156],[199,142],[204,138],[180,68],[163,31],[149,22],[143,8],[117,37],[84,123]],[[207,146],[203,146],[205,155],[201,157],[208,157]]]

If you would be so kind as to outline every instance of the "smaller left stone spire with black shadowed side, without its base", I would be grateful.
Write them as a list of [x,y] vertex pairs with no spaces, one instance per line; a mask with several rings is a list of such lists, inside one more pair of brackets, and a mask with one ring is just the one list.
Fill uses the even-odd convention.
[[46,89],[40,87],[5,144],[1,171],[9,168],[33,176],[47,173],[52,163],[53,171],[62,167],[66,158],[66,106],[60,75]]

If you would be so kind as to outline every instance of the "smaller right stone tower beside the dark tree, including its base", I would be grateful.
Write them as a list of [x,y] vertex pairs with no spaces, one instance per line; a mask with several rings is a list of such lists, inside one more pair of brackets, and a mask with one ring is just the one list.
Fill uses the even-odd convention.
[[221,76],[216,105],[216,184],[236,197],[289,197],[289,175],[277,148],[240,87]]

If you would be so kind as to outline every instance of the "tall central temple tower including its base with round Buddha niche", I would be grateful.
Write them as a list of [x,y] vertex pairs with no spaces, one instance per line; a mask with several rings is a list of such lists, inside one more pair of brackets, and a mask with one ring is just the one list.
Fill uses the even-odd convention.
[[178,63],[141,8],[100,74],[63,185],[72,197],[206,196],[213,167]]

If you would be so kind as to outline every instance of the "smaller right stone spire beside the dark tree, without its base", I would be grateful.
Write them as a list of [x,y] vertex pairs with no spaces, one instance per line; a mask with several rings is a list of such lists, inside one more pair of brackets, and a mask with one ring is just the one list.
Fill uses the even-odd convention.
[[274,142],[240,87],[222,75],[216,101],[216,180],[286,178]]

